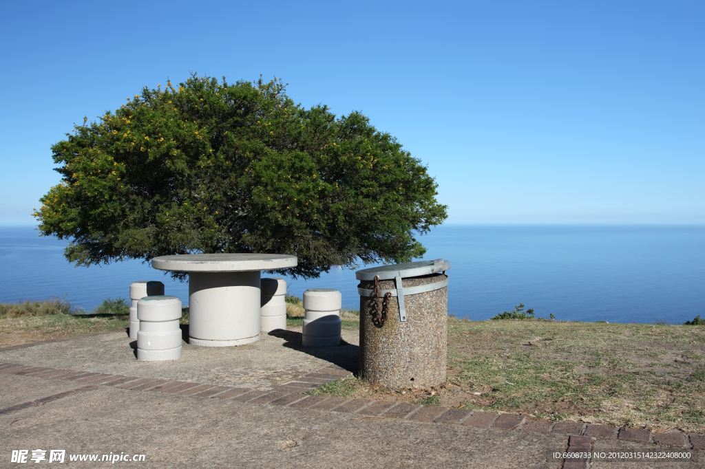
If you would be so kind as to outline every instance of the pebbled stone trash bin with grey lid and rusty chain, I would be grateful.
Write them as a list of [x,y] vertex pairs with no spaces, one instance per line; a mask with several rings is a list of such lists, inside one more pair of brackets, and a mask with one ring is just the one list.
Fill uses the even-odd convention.
[[388,388],[446,382],[450,262],[358,270],[360,375]]

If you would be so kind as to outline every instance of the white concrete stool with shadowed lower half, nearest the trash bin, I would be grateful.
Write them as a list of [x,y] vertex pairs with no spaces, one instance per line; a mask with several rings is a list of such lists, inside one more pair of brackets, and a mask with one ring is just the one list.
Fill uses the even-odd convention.
[[341,307],[343,296],[332,288],[312,288],[304,292],[305,347],[329,347],[341,344]]

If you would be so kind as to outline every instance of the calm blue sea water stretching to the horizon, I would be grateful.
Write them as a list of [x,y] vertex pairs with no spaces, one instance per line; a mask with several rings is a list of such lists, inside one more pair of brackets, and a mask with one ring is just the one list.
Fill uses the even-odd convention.
[[[705,316],[704,226],[458,226],[421,238],[425,259],[446,258],[448,310],[483,320],[523,302],[537,316],[615,323],[683,323]],[[66,300],[90,311],[128,296],[135,280],[161,280],[188,304],[188,284],[139,261],[76,268],[66,242],[29,227],[0,228],[0,301]],[[357,308],[354,270],[291,280],[289,292],[330,287]]]

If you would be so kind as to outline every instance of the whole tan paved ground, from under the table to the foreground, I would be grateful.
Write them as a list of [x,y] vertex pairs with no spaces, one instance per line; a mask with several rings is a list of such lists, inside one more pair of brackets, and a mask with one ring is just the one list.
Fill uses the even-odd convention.
[[[311,352],[300,347],[297,334],[267,336],[256,344],[228,349],[186,345],[183,358],[174,363],[137,362],[130,340],[121,332],[0,351],[0,468],[18,467],[11,463],[13,449],[30,450],[29,457],[34,449],[99,454],[99,459],[111,453],[145,454],[143,463],[115,464],[149,468],[569,469],[586,463],[547,461],[546,451],[564,451],[570,438],[572,450],[666,448],[549,433],[555,429],[531,427],[524,420],[513,425],[511,415],[505,420],[494,415],[482,427],[473,426],[482,415],[445,408],[417,406],[395,414],[400,405],[315,401],[286,382],[300,375],[345,375],[357,354],[356,337],[345,337],[348,346]],[[332,378],[321,378],[326,379]],[[167,380],[191,384],[183,384],[185,390],[174,394],[167,389],[171,384],[164,384]],[[142,382],[146,384],[138,385]],[[198,387],[199,383],[209,386]],[[247,389],[236,392],[238,387]],[[186,395],[188,389],[203,390]],[[271,404],[257,404],[258,400]],[[108,464],[71,463],[68,456],[66,463]],[[594,462],[587,467],[704,466]]]

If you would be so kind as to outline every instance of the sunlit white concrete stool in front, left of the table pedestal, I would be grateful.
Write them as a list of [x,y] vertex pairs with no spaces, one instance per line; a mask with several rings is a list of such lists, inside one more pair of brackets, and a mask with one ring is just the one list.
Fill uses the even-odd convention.
[[181,358],[181,300],[176,296],[145,296],[137,301],[137,360]]

